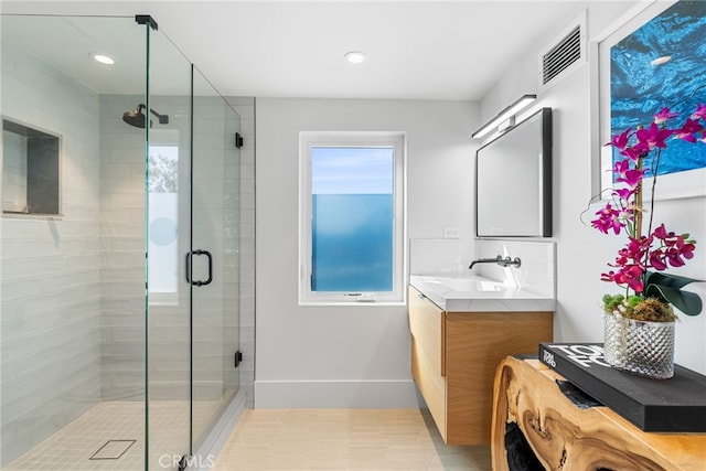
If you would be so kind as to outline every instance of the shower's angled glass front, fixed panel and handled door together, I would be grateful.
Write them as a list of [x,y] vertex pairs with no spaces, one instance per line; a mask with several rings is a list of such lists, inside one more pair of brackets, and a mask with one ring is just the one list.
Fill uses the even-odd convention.
[[238,385],[239,117],[161,32],[149,51],[150,469],[208,468]]

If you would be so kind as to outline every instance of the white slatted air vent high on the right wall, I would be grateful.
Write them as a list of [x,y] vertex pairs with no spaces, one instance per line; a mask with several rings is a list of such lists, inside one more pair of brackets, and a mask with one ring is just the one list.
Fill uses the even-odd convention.
[[582,15],[539,55],[539,88],[553,85],[575,64],[586,60],[585,24]]

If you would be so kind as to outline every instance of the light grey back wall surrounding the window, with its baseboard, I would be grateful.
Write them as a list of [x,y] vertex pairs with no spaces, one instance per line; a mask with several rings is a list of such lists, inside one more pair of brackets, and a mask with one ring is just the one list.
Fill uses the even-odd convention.
[[470,101],[258,99],[255,407],[416,407],[405,306],[301,307],[299,131],[407,132],[408,237],[471,236]]

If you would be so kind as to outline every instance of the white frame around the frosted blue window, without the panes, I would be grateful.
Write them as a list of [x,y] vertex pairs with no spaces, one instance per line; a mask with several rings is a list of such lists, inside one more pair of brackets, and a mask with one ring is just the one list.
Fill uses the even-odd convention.
[[[406,135],[387,131],[301,131],[299,133],[299,304],[404,304],[407,274]],[[311,290],[311,149],[314,147],[392,147],[393,182],[393,290],[322,292]]]

